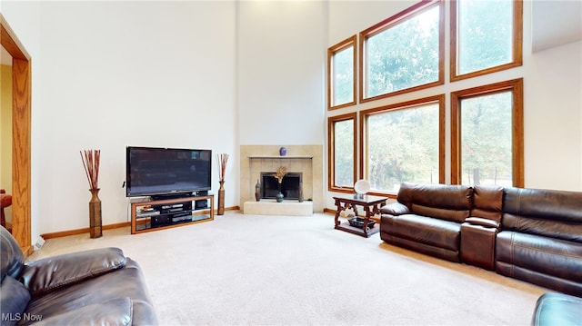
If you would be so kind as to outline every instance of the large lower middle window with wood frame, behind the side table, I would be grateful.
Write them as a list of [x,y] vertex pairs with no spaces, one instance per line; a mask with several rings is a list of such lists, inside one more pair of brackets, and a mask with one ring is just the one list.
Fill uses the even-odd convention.
[[376,193],[396,193],[402,182],[445,181],[445,96],[361,113],[366,179]]

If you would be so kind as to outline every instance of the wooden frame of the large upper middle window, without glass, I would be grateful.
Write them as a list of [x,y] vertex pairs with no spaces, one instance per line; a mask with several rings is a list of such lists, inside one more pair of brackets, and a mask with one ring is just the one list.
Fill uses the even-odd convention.
[[[366,41],[369,37],[380,34],[391,27],[400,24],[406,19],[409,19],[424,10],[432,7],[433,5],[439,6],[439,24],[438,24],[438,78],[437,81],[428,84],[421,84],[413,86],[410,88],[398,90],[386,94],[378,94],[376,96],[366,97]],[[421,89],[426,89],[434,87],[445,83],[445,2],[443,0],[423,0],[416,5],[412,5],[400,13],[393,15],[385,20],[373,25],[366,30],[360,32],[359,34],[359,101],[360,103],[366,103],[370,101],[376,101],[382,98],[395,96],[397,94],[405,94],[410,92],[416,92]]]

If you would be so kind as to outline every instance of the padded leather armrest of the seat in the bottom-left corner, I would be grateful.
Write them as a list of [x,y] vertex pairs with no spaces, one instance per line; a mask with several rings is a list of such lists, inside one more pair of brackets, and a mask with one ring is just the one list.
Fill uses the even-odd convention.
[[20,278],[35,297],[124,266],[125,255],[121,249],[100,248],[26,263]]

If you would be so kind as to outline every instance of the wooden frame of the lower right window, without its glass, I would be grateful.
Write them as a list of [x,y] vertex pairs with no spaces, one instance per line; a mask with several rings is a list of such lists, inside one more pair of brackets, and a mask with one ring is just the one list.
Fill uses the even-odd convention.
[[451,184],[461,182],[461,100],[507,91],[512,92],[513,103],[511,114],[513,186],[524,186],[523,78],[451,93]]

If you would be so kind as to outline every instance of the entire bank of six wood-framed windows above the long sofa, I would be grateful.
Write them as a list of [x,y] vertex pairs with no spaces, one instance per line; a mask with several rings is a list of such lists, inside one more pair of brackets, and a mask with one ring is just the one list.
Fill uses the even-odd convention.
[[[329,190],[353,191],[356,176],[390,196],[402,182],[523,186],[523,80],[475,78],[499,82],[492,73],[520,66],[522,31],[522,0],[421,0],[332,46],[328,109],[354,105],[346,111],[359,114],[359,143],[356,115],[329,118]],[[356,41],[359,103],[341,104],[352,98]],[[462,84],[475,87],[457,91]],[[450,93],[449,115],[442,93]]]

